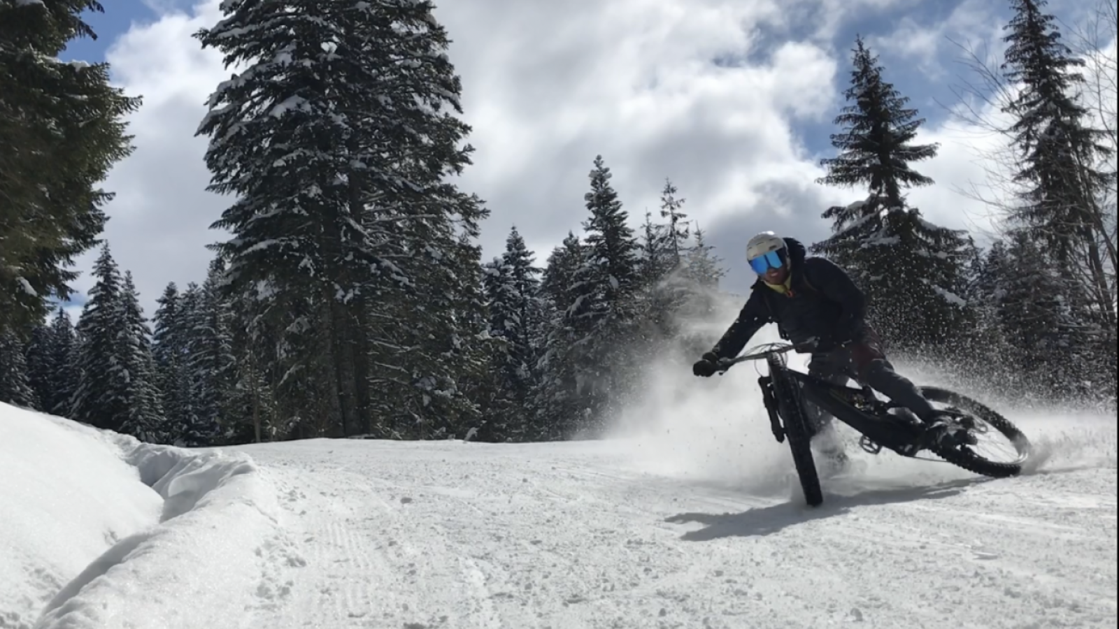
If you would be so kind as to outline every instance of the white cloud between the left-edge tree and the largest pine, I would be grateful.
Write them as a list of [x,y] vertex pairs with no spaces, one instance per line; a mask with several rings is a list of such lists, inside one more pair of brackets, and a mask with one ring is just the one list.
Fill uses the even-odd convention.
[[[207,140],[194,133],[203,102],[226,72],[219,55],[201,50],[190,37],[218,15],[217,2],[209,2],[190,16],[179,11],[133,25],[106,54],[114,83],[129,95],[142,95],[143,104],[129,119],[135,151],[104,185],[116,197],[106,207],[103,237],[117,263],[132,271],[149,316],[167,282],[201,281],[210,259],[204,246],[218,238],[208,227],[224,201],[205,190]],[[87,252],[83,270],[97,255]],[[87,291],[93,281],[83,273],[75,287]]]

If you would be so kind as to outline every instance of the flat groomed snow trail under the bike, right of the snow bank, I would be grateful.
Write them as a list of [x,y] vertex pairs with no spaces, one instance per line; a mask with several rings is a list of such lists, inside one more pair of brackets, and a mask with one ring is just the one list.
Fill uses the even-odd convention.
[[[1102,439],[1113,452],[1115,429]],[[241,448],[284,533],[228,626],[1116,626],[1113,453],[1006,480],[894,458],[809,509],[780,484],[645,472],[659,454],[640,445]]]

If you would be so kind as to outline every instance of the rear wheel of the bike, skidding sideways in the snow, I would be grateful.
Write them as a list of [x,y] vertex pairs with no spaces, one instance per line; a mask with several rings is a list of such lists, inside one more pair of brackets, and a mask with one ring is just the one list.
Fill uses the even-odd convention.
[[1013,454],[1007,457],[1008,461],[995,460],[993,454],[980,454],[976,451],[976,448],[981,442],[977,445],[935,444],[930,447],[930,450],[949,463],[991,478],[1007,478],[1022,472],[1022,466],[1029,458],[1029,440],[1010,420],[1007,420],[986,404],[955,391],[938,386],[922,386],[919,388],[929,402],[958,409],[967,415],[975,417],[977,425],[974,429],[969,428],[969,432],[977,439],[982,440],[982,438],[990,433],[989,429],[995,429],[998,434],[1009,441]]

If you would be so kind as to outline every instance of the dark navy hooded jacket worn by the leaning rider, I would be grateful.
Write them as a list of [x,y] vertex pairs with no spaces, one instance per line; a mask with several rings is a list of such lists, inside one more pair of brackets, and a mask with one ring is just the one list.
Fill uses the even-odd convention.
[[737,356],[765,323],[775,322],[781,338],[794,344],[814,337],[836,342],[863,340],[863,291],[830,260],[807,257],[805,245],[796,238],[784,238],[784,243],[792,272],[790,294],[777,292],[759,278],[739,318],[712,349],[720,358]]

